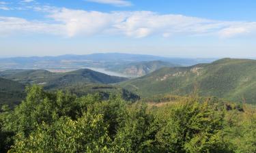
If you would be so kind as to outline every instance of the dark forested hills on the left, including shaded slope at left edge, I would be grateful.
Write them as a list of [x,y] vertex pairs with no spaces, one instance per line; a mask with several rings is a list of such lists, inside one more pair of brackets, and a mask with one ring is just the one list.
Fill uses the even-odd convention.
[[79,69],[66,73],[52,73],[43,69],[13,69],[0,72],[0,106],[11,107],[25,98],[25,86],[38,84],[45,90],[70,91],[79,97],[99,93],[102,98],[110,95],[121,95],[128,101],[136,101],[140,97],[123,88],[111,84],[127,80],[126,78],[106,75],[90,69]]

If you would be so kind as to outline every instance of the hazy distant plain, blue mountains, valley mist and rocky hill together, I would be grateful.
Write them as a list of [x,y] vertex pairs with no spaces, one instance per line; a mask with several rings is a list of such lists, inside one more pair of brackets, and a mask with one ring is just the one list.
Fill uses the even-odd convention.
[[0,71],[6,69],[49,69],[60,72],[89,68],[109,75],[137,77],[152,72],[151,69],[156,70],[160,67],[188,66],[197,63],[210,63],[214,60],[214,58],[167,58],[120,53],[16,57],[1,58]]

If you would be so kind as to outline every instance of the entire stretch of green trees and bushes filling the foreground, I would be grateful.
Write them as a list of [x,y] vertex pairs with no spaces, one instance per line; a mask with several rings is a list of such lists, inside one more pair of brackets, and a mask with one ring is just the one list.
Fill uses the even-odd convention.
[[[77,97],[27,88],[1,107],[1,152],[256,152],[256,112],[216,98],[166,97],[164,105],[122,95]],[[159,99],[158,99],[159,100]]]

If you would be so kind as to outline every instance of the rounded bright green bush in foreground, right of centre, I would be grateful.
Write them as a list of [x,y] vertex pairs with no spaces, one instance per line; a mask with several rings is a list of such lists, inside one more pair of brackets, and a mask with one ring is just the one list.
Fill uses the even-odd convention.
[[[171,109],[171,111],[169,111]],[[229,152],[223,141],[223,113],[188,99],[160,114],[157,140],[165,152]],[[162,118],[165,116],[165,118]],[[159,123],[158,123],[159,124]],[[162,147],[161,146],[161,147]]]

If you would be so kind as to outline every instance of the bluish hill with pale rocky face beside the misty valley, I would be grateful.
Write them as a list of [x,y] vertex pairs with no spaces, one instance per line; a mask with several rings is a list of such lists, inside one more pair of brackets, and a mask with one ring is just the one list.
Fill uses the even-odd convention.
[[179,65],[175,65],[168,62],[163,61],[146,61],[139,63],[130,63],[128,65],[117,65],[116,67],[111,67],[108,69],[109,71],[117,71],[119,73],[123,73],[124,75],[138,77],[143,76],[148,73],[152,73],[157,69],[162,67],[177,67]]

